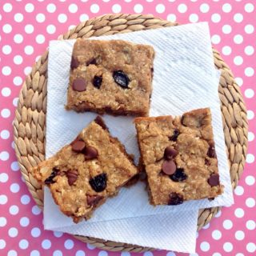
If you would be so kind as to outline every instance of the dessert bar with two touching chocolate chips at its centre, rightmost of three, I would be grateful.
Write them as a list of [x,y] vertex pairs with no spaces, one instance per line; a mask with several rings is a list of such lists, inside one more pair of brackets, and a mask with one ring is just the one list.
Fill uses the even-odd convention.
[[210,109],[134,122],[153,205],[222,194]]

